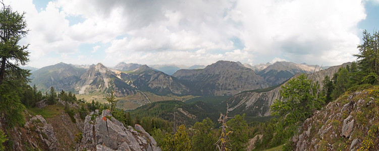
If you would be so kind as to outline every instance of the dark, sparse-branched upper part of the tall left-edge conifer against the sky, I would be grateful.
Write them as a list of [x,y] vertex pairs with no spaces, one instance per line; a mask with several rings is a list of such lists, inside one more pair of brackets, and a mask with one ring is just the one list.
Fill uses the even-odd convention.
[[[9,74],[18,80],[28,80],[29,70],[21,69],[29,61],[28,45],[20,46],[19,41],[28,33],[25,13],[13,12],[10,6],[0,10],[0,85],[7,80]],[[8,74],[8,75],[7,75]],[[10,80],[10,79],[8,79]]]

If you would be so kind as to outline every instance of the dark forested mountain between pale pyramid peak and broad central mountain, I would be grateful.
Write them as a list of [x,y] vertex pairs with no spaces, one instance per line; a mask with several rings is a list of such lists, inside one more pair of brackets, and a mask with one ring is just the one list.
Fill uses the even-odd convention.
[[156,71],[147,65],[142,65],[130,73],[119,72],[119,77],[124,81],[132,82],[132,85],[138,90],[158,95],[184,95],[189,93],[189,88],[178,79],[164,72]]

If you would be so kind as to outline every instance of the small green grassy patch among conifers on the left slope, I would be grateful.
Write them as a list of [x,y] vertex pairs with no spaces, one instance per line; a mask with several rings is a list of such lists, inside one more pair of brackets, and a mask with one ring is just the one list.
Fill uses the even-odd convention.
[[32,113],[33,115],[41,115],[43,118],[51,118],[57,115],[61,115],[61,111],[64,109],[63,105],[56,104],[56,105],[49,105],[42,109],[40,108],[29,108],[28,112]]

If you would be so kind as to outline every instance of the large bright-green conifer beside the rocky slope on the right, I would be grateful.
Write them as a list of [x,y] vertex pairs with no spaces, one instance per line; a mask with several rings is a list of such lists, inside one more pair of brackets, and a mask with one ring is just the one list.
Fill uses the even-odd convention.
[[289,80],[280,91],[281,99],[275,100],[270,106],[271,115],[278,120],[275,125],[275,143],[286,142],[297,132],[298,126],[310,117],[314,110],[319,109],[322,100],[319,99],[317,85],[307,80],[304,74]]

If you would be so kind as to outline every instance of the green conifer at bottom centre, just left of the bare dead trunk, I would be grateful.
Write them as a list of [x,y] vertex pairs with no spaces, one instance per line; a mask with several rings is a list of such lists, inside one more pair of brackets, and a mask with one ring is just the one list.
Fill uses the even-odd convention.
[[214,150],[214,142],[216,138],[213,136],[212,131],[213,122],[209,119],[203,119],[202,122],[196,122],[192,129],[194,135],[192,136],[192,150]]

